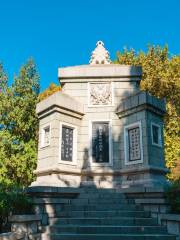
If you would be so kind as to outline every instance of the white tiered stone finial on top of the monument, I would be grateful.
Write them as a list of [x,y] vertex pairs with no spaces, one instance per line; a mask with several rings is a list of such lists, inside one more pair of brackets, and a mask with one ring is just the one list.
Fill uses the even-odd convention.
[[90,64],[110,64],[111,60],[109,57],[109,52],[105,49],[104,43],[102,41],[98,41],[96,43],[96,48],[92,52],[91,59],[89,61]]

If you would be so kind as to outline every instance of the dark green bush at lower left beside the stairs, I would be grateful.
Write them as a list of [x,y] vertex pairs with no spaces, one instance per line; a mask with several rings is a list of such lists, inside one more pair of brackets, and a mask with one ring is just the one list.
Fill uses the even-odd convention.
[[17,186],[0,184],[0,232],[7,228],[8,216],[33,213],[32,201]]

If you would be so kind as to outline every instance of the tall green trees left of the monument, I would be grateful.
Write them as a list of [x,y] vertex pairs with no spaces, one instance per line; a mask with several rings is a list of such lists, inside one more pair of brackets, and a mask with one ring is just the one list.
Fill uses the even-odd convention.
[[[3,70],[0,76],[5,79]],[[7,81],[0,86],[0,182],[26,186],[37,161],[39,75],[34,61],[21,67],[12,86]]]

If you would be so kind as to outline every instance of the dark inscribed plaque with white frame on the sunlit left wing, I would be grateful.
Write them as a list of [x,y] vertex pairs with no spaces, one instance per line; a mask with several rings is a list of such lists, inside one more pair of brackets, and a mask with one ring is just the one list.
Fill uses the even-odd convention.
[[62,126],[61,160],[73,160],[73,129]]

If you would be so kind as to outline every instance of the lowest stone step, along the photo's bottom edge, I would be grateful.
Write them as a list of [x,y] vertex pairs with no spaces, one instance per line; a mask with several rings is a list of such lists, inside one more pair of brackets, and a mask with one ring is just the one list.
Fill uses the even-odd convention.
[[42,240],[176,240],[168,234],[42,234]]

